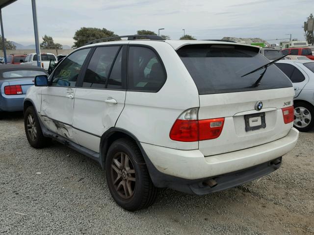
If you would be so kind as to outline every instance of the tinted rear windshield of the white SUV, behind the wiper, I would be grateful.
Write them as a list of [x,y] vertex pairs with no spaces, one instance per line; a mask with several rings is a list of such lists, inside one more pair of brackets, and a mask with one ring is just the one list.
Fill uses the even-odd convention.
[[269,63],[254,47],[202,44],[184,46],[177,52],[199,94],[292,87],[287,76],[275,65],[268,67],[258,87],[253,87],[253,84],[263,70],[241,77]]

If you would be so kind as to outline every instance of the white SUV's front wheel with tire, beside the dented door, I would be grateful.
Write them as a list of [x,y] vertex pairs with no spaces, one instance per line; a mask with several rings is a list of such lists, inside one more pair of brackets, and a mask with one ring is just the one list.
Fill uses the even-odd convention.
[[32,147],[42,148],[51,142],[50,138],[44,137],[33,106],[29,106],[24,113],[24,126],[27,140]]

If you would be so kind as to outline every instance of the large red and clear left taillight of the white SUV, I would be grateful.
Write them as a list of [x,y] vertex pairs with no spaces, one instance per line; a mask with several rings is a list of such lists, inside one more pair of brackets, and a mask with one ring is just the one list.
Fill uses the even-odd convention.
[[220,136],[225,118],[198,120],[198,108],[184,111],[173,124],[170,139],[193,142],[216,139]]

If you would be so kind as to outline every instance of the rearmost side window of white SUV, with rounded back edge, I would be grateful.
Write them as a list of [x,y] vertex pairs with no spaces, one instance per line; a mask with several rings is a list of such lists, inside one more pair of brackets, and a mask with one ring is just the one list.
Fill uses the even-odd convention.
[[156,53],[147,47],[130,47],[128,89],[157,92],[166,81],[166,73]]

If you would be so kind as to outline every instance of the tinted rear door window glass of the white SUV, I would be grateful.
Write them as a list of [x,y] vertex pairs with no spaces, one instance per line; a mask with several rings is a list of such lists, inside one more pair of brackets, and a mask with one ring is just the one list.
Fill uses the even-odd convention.
[[[122,50],[120,50],[120,53],[118,54],[117,59],[116,59],[116,63],[113,65],[114,59],[119,49],[120,49],[119,46],[96,48],[89,62],[89,65],[87,67],[84,80],[83,80],[83,87],[104,89],[109,84],[109,85],[116,85],[117,86],[116,88],[121,88]],[[119,71],[119,65],[118,65],[119,61],[120,61],[120,71]],[[112,73],[112,75],[110,75],[110,73]]]

